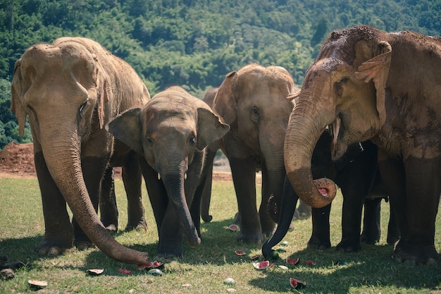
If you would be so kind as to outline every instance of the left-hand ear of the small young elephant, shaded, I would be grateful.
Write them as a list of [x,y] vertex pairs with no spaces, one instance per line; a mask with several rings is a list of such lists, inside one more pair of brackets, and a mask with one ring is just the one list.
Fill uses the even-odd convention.
[[139,114],[141,114],[140,108],[129,109],[120,114],[120,116],[113,118],[106,125],[106,130],[116,139],[142,154],[142,125],[139,120]]

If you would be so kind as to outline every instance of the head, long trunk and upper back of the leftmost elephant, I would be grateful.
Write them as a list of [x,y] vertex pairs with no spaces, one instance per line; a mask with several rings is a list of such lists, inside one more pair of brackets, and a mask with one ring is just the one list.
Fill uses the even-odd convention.
[[125,99],[135,104],[149,99],[135,71],[90,39],[65,37],[25,51],[15,63],[11,92],[20,135],[28,116],[35,154],[42,154],[44,169],[82,230],[113,259],[147,262],[147,254],[120,245],[106,231],[82,176],[82,158],[100,159],[106,166],[113,137],[103,126],[129,103]]

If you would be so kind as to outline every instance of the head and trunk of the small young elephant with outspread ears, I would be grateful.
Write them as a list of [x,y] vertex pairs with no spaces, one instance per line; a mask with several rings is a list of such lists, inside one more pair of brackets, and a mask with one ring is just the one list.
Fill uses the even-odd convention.
[[[187,173],[192,169],[195,154],[223,137],[229,130],[228,125],[221,123],[206,103],[181,87],[170,87],[156,94],[142,109],[121,114],[107,128],[116,138],[144,155],[163,182],[168,205],[173,208],[187,243],[191,247],[199,245],[197,228],[188,208],[193,195],[186,195]],[[161,238],[163,220],[156,219],[156,222]]]

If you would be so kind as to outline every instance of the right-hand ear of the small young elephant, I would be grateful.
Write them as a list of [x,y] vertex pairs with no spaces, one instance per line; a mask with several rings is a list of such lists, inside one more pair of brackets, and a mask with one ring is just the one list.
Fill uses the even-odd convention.
[[209,109],[199,107],[197,109],[197,144],[199,150],[204,149],[212,142],[221,139],[228,130],[230,125],[222,123],[216,114],[209,111]]

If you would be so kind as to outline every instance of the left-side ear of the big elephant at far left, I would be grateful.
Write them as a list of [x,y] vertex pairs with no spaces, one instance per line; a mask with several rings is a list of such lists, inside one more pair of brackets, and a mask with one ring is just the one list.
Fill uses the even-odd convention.
[[21,106],[20,98],[23,94],[22,76],[20,71],[21,59],[15,62],[14,77],[11,83],[11,111],[15,113],[15,118],[18,121],[18,132],[21,137],[25,132],[26,111]]

